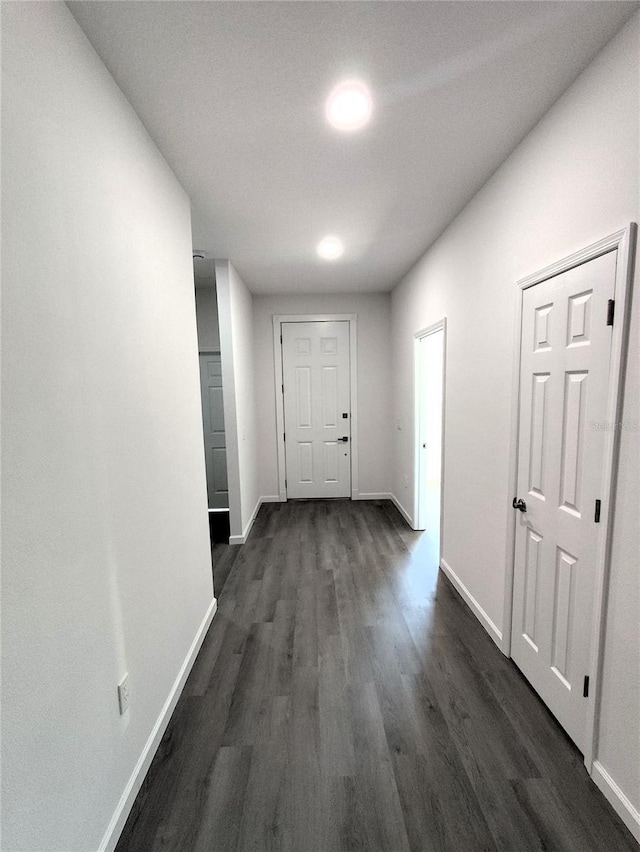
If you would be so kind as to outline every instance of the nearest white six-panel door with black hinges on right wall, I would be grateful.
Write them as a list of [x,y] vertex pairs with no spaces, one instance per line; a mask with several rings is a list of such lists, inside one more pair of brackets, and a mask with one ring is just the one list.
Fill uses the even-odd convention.
[[615,270],[612,251],[523,294],[511,653],[582,750]]

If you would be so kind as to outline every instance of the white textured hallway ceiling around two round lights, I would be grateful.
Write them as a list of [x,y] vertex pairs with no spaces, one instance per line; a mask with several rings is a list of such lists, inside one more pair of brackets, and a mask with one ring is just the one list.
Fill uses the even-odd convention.
[[[194,246],[254,293],[391,289],[638,8],[68,5],[191,197]],[[349,136],[323,115],[344,77],[375,102]],[[327,233],[337,262],[315,255]]]

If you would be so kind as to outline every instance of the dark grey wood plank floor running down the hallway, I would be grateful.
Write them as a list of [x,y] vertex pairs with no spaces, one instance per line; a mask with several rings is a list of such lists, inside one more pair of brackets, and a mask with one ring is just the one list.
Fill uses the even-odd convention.
[[389,503],[262,507],[117,852],[637,845]]

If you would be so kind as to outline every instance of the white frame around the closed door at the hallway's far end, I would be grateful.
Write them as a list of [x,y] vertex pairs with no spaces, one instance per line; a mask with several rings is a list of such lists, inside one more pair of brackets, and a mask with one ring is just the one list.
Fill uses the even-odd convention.
[[278,494],[280,502],[287,500],[285,486],[286,464],[284,455],[284,395],[282,380],[283,322],[348,322],[349,323],[349,394],[351,406],[351,499],[360,495],[358,486],[358,350],[357,314],[274,314],[273,317],[273,362],[275,367],[276,392],[276,439],[278,446]]

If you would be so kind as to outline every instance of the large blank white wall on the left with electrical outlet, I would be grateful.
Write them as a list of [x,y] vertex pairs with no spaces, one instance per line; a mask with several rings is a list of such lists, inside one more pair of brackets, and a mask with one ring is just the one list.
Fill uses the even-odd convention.
[[189,201],[63,3],[2,27],[2,840],[89,852],[213,605]]

